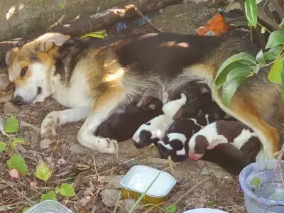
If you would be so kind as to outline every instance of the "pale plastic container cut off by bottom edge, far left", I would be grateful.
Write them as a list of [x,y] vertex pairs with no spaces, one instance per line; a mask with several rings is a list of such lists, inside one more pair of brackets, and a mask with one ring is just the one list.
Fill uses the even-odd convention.
[[35,204],[25,213],[72,213],[70,209],[55,200],[45,200]]

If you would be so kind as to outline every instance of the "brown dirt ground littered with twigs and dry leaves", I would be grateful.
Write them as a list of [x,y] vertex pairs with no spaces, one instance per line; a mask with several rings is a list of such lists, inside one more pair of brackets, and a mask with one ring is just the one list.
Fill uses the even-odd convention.
[[[116,31],[116,26],[112,26],[108,33],[118,35],[153,32],[148,26],[131,27],[131,23],[133,21],[129,21],[128,28],[121,33]],[[3,103],[0,105],[1,114],[4,114],[4,109],[11,111],[11,114],[16,114],[19,121],[25,121],[40,128],[41,121],[50,111],[62,110],[63,107],[53,99],[47,99],[44,103],[21,107],[16,113],[14,113],[15,107],[8,104],[4,107]],[[22,212],[23,207],[39,202],[40,195],[54,190],[63,182],[75,185],[76,196],[66,200],[58,195],[58,201],[66,204],[74,212],[114,212],[115,202],[107,204],[111,206],[107,207],[100,194],[104,190],[109,192],[109,189],[115,189],[114,182],[110,185],[106,180],[108,176],[114,178],[117,184],[121,176],[112,175],[124,175],[133,165],[149,165],[153,168],[166,169],[170,173],[167,169],[168,161],[157,158],[156,148],[150,148],[142,155],[131,156],[141,151],[133,146],[132,141],[119,143],[119,155],[97,153],[80,146],[76,139],[80,126],[82,122],[61,126],[57,130],[57,136],[45,141],[41,141],[36,128],[21,126],[18,137],[26,138],[28,144],[18,146],[16,151],[26,159],[30,175],[20,180],[11,179],[6,168],[9,153],[0,153],[0,212]],[[7,138],[1,136],[0,141],[7,141]],[[127,154],[129,157],[123,157],[122,154]],[[40,181],[33,175],[38,160],[41,158],[52,168],[53,175],[48,182]],[[209,178],[204,185],[178,203],[177,212],[185,212],[185,210],[197,207],[213,207],[227,212],[245,212],[243,192],[237,192],[238,176],[226,173],[213,163],[202,165],[192,160],[178,163],[173,166],[173,169],[172,175],[178,182],[170,193],[169,200],[161,206],[163,209],[173,204],[198,182]],[[130,200],[129,203],[133,201]],[[1,206],[9,206],[9,208],[2,207],[1,209]],[[119,202],[116,212],[127,211],[125,204]],[[146,212],[146,208],[139,208],[136,212]],[[149,212],[165,212],[165,210],[152,209]]]

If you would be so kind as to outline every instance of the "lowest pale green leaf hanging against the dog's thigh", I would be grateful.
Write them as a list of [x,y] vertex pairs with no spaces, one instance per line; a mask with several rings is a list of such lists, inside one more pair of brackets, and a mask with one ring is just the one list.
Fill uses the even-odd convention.
[[236,89],[238,89],[239,85],[244,82],[245,78],[246,77],[235,77],[233,80],[223,84],[222,100],[227,107],[229,106],[231,98],[234,96]]

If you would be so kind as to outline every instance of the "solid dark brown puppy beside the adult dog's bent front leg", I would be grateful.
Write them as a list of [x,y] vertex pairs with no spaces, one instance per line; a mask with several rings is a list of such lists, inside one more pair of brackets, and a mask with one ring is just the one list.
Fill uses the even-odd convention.
[[153,97],[138,97],[126,107],[124,112],[111,114],[99,125],[96,136],[126,141],[133,136],[139,126],[163,114],[163,102]]

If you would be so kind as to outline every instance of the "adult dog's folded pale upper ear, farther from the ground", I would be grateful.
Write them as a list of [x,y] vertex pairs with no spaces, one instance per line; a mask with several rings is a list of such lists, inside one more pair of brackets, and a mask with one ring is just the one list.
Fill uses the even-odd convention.
[[41,35],[36,41],[39,43],[40,51],[48,51],[54,46],[62,46],[71,37],[61,33],[45,33]]

